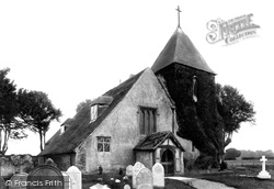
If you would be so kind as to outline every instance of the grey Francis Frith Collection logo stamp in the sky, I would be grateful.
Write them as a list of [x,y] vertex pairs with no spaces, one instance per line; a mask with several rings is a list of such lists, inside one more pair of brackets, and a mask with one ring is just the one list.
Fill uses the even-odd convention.
[[229,45],[243,38],[258,36],[256,30],[260,26],[252,22],[252,16],[251,13],[228,21],[217,19],[207,22],[206,26],[209,33],[206,35],[206,41],[210,44],[222,41],[226,45]]

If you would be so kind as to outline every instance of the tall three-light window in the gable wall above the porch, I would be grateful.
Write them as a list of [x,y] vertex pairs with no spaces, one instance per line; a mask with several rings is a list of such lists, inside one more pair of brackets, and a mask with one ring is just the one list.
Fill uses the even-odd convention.
[[140,134],[151,134],[156,132],[157,109],[140,108]]

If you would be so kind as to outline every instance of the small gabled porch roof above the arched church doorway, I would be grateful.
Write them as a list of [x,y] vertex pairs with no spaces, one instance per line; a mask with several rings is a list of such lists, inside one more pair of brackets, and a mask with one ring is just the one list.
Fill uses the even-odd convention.
[[170,138],[179,148],[184,151],[180,142],[170,131],[157,132],[147,135],[134,148],[134,151],[153,151],[161,145],[167,138]]

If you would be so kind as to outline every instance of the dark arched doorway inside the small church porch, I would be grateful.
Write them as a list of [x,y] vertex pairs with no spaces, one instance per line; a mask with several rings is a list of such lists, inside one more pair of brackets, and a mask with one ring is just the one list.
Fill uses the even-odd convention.
[[161,164],[164,168],[164,175],[174,174],[174,154],[171,149],[165,149],[161,156]]

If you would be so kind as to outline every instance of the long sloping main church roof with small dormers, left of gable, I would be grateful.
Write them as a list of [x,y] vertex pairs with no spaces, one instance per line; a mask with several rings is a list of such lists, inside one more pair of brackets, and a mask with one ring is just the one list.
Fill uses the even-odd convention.
[[60,134],[58,131],[48,141],[49,144],[45,146],[45,149],[38,155],[42,156],[50,154],[73,153],[75,148],[78,147],[123,100],[134,84],[142,75],[142,73],[144,70],[103,94],[112,97],[113,99],[94,122],[90,123],[90,105],[93,102],[83,107],[75,115],[73,121],[70,123],[68,130],[62,134]]

